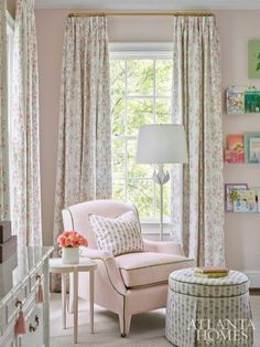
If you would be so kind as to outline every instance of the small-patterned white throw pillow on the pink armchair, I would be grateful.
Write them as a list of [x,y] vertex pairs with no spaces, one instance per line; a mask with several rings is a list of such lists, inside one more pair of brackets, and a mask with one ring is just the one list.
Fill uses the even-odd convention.
[[89,214],[89,221],[99,250],[113,255],[144,251],[140,223],[133,211],[115,219]]

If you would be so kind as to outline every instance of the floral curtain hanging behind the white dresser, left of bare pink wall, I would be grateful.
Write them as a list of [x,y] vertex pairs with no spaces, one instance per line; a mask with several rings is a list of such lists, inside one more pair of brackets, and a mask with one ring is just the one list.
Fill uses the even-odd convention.
[[18,243],[42,243],[39,73],[34,0],[18,0],[12,92],[11,214]]

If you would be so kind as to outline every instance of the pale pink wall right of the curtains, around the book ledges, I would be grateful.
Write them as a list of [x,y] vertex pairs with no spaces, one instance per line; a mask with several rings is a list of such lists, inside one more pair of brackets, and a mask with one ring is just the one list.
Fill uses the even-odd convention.
[[[223,90],[229,85],[256,85],[259,80],[248,80],[247,44],[260,39],[260,11],[219,12],[221,39]],[[260,116],[227,116],[224,114],[224,135],[260,132]],[[226,144],[225,144],[226,145]],[[247,182],[260,187],[260,166],[225,165],[226,182]],[[231,267],[260,270],[260,213],[226,213],[227,262]],[[259,285],[258,285],[259,286]]]

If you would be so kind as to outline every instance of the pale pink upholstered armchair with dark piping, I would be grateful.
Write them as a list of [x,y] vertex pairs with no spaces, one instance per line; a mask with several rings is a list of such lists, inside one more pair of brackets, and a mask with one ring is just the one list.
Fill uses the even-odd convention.
[[[83,249],[82,256],[95,260],[98,265],[95,303],[118,314],[121,336],[129,333],[132,315],[165,307],[171,272],[194,266],[194,260],[185,257],[181,246],[173,242],[144,240],[145,252],[118,256],[99,251],[88,214],[116,218],[131,210],[137,213],[134,206],[113,200],[87,201],[63,210],[64,229],[74,229],[88,239],[89,246]],[[78,295],[84,298],[87,281],[87,274],[80,273]],[[72,281],[69,294],[72,298]]]

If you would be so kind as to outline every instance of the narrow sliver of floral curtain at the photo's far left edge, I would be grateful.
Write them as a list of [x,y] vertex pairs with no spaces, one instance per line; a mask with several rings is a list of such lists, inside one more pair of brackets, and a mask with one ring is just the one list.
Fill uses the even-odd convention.
[[0,2],[0,220],[9,215],[8,52],[6,0]]

